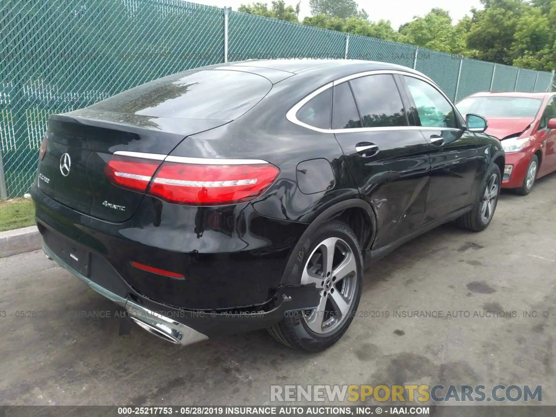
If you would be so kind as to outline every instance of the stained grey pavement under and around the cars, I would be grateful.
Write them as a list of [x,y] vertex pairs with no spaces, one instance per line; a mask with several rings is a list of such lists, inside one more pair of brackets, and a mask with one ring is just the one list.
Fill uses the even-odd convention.
[[319,354],[266,331],[178,347],[120,327],[119,307],[42,251],[0,259],[0,404],[261,405],[272,384],[441,383],[542,385],[556,405],[555,219],[553,174],[503,192],[484,232],[449,224],[400,247]]

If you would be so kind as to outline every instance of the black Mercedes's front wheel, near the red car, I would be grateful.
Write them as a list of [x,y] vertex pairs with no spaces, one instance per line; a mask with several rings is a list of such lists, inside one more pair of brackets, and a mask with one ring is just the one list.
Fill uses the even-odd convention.
[[[479,193],[473,202],[473,208],[456,221],[461,228],[473,232],[480,232],[488,227],[498,204],[501,180],[500,168],[493,163],[490,165],[488,171],[486,171],[483,183],[479,188]],[[486,200],[487,196],[488,201]],[[485,203],[488,204],[486,208],[484,206]],[[488,211],[488,213],[486,211]]]

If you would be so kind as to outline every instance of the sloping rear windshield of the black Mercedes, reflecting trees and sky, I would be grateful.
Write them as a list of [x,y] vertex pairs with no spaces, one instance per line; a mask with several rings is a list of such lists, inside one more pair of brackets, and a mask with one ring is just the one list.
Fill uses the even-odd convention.
[[234,120],[272,87],[259,75],[239,71],[186,71],[151,81],[89,108],[151,117]]

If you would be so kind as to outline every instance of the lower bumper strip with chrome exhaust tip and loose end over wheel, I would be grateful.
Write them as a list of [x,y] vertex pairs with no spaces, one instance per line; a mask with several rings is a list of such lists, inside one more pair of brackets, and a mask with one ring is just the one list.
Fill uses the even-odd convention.
[[319,292],[314,285],[299,285],[280,287],[275,306],[268,311],[208,312],[176,309],[148,300],[130,287],[126,294],[116,294],[73,269],[46,244],[43,245],[43,250],[48,259],[72,272],[98,294],[125,308],[130,319],[143,329],[182,346],[209,337],[264,329],[280,321],[288,311],[310,309],[319,303]]

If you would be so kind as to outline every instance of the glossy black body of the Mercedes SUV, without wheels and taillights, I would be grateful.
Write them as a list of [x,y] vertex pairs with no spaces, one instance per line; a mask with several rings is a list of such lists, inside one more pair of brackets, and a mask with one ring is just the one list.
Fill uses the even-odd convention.
[[[361,81],[336,85],[376,71],[388,80],[380,84],[387,83],[397,95],[388,105],[392,114],[384,112],[394,128],[380,125],[382,110],[366,112]],[[145,306],[283,314],[289,296],[282,292],[299,286],[295,262],[319,224],[357,212],[361,249],[378,257],[468,211],[488,167],[496,162],[503,168],[500,143],[467,131],[455,108],[454,127],[421,126],[405,75],[430,82],[412,69],[387,63],[246,61],[180,73],[52,116],[46,156],[38,166],[41,177],[31,191],[44,242],[82,279]],[[209,82],[205,94],[195,95],[203,77],[221,82],[213,87]],[[292,122],[287,114],[294,105],[323,86],[329,90],[323,90],[317,110],[324,109],[324,116],[315,108],[307,114],[323,116],[319,123],[324,120],[325,127]],[[226,96],[228,87],[233,93]],[[251,201],[170,203],[148,189],[131,191],[107,180],[108,161],[122,151],[160,156],[162,165],[165,158],[213,165],[258,161],[277,167],[279,174]],[[64,153],[72,159],[68,176],[61,170]],[[138,269],[131,262],[180,277]],[[311,290],[291,290],[303,294],[289,305],[314,307],[316,289]],[[234,322],[232,327],[245,330],[276,320],[265,317],[258,325]],[[191,317],[176,320],[197,330],[201,326],[207,335],[221,329],[220,324],[211,327],[208,317],[198,326]],[[219,315],[212,322],[221,321]]]

